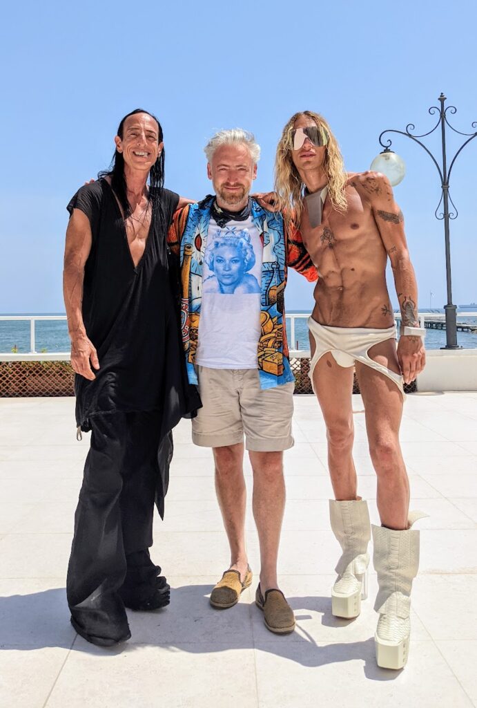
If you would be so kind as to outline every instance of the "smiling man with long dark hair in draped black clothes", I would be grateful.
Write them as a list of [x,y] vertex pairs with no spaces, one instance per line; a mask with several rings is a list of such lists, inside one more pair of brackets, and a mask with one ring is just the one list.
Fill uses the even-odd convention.
[[163,130],[136,109],[119,124],[110,170],[69,202],[64,299],[76,372],[76,423],[91,430],[67,596],[93,644],[129,639],[125,607],[155,610],[169,586],[149,556],[163,516],[170,430],[200,405],[179,327],[179,271],[166,244],[177,207],[163,187]]

